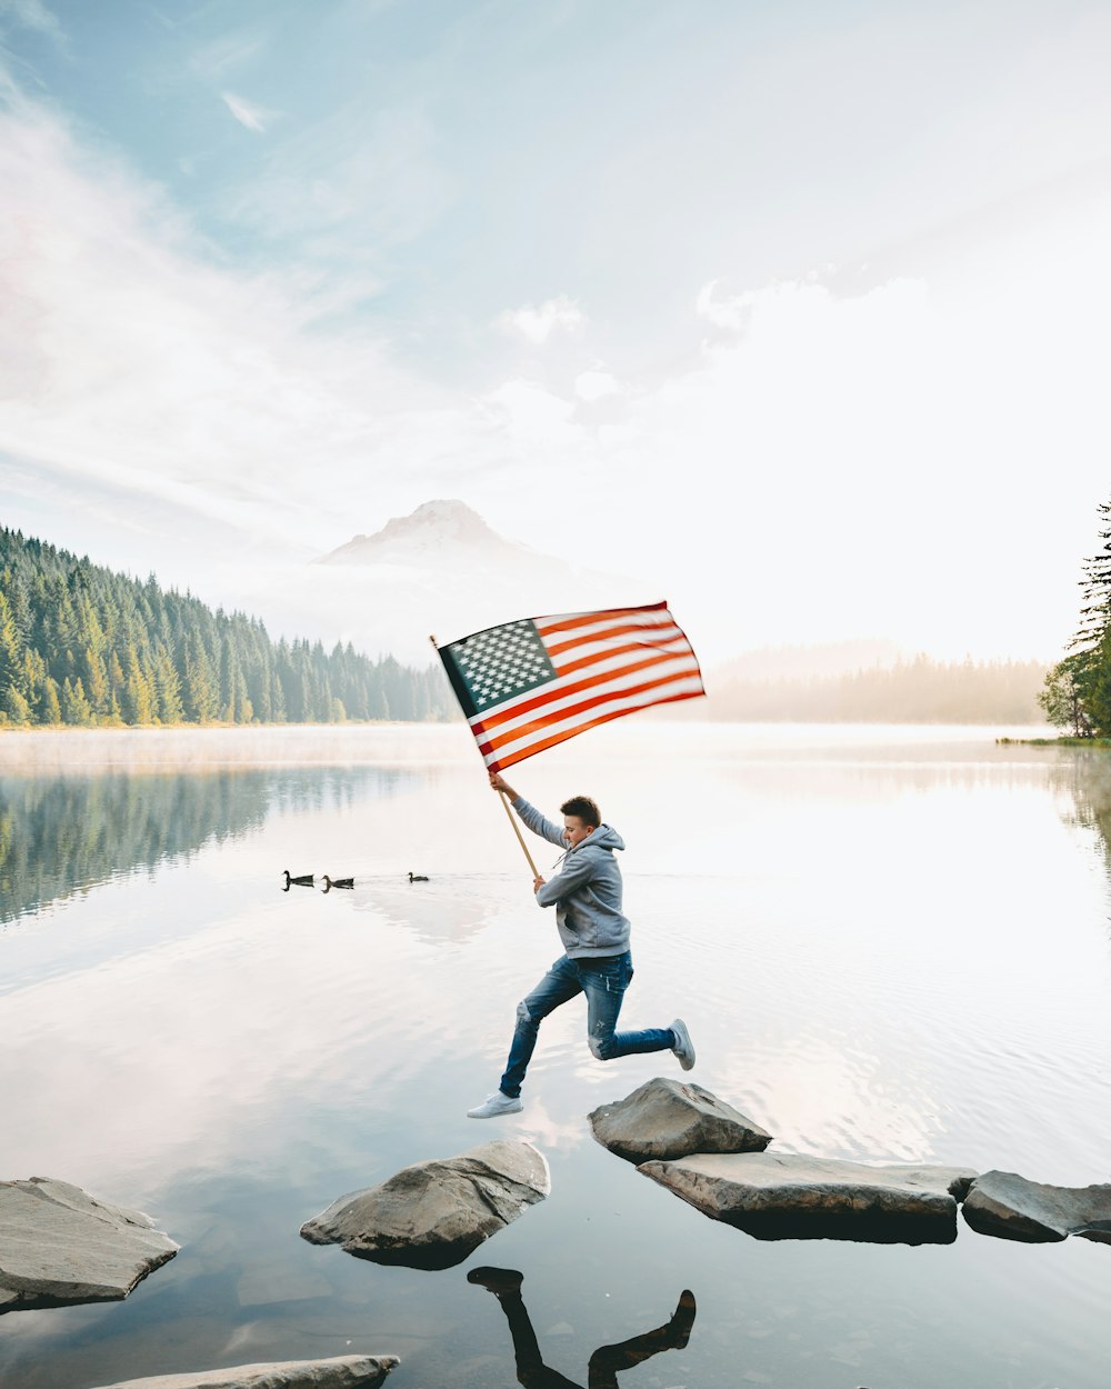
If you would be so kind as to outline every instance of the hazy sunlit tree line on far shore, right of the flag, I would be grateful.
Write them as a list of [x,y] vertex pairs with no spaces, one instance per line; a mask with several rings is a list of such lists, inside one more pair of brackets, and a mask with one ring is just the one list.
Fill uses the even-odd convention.
[[917,656],[836,675],[735,679],[705,717],[799,724],[1035,724],[1040,661],[935,661]]

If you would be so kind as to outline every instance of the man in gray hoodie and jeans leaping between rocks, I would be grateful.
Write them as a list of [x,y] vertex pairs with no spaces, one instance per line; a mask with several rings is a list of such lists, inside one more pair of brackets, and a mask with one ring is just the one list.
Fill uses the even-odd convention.
[[633,976],[629,954],[629,921],[621,910],[621,868],[614,850],[625,840],[601,822],[599,807],[589,796],[565,800],[562,829],[518,796],[497,772],[490,786],[504,792],[525,825],[542,839],[564,850],[560,871],[551,882],[533,879],[536,903],[556,907],[556,926],[564,945],[557,960],[532,993],[517,1006],[517,1028],[510,1058],[497,1090],[474,1110],[472,1120],[515,1114],[524,1108],[521,1085],[536,1047],[543,1020],[560,1004],[586,995],[586,1039],[600,1061],[644,1051],[674,1051],[679,1065],[694,1065],[694,1047],[682,1018],[669,1028],[617,1032],[621,1001]]

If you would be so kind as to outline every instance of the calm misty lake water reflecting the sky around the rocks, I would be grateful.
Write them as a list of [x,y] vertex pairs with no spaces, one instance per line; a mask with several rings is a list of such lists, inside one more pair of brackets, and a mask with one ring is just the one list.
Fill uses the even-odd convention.
[[[983,729],[629,720],[514,768],[625,836],[629,1025],[682,1013],[692,1079],[783,1150],[1111,1181],[1111,929],[1099,756]],[[0,1318],[6,1389],[394,1353],[397,1389],[517,1383],[467,1282],[524,1272],[549,1365],[658,1326],[622,1389],[1105,1389],[1111,1247],[757,1242],[597,1146],[605,1065],[571,1004],[524,1114],[496,1086],[554,922],[465,732],[0,739],[0,1178],[57,1176],[181,1245],[122,1303]],[[535,842],[547,868],[556,850]],[[281,890],[282,870],[354,892]],[[407,872],[428,874],[410,886]],[[303,1242],[336,1196],[499,1135],[553,1193],[465,1264]]]

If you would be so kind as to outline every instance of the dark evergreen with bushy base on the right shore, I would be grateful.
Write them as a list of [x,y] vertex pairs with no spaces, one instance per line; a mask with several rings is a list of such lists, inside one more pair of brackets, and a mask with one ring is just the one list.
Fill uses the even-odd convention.
[[1111,503],[1099,513],[1103,543],[1082,565],[1080,621],[1039,694],[1050,724],[1074,738],[1111,738]]

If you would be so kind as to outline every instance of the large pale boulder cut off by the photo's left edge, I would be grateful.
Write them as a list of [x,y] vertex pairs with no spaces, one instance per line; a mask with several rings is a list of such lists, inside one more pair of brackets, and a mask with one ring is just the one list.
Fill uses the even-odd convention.
[[68,1182],[0,1182],[0,1313],[126,1297],[178,1247],[142,1211]]

